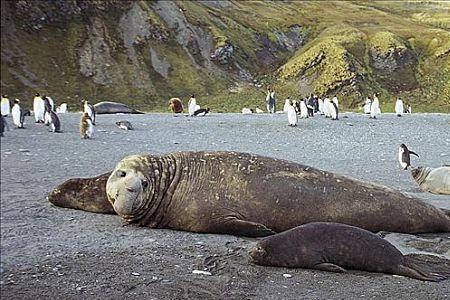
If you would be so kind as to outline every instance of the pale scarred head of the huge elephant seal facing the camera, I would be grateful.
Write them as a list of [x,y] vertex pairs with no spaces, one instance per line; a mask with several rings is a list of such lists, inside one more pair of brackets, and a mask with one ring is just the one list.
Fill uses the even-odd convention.
[[153,181],[148,177],[144,157],[128,156],[116,166],[106,183],[108,200],[118,215],[128,222],[140,218],[148,206]]

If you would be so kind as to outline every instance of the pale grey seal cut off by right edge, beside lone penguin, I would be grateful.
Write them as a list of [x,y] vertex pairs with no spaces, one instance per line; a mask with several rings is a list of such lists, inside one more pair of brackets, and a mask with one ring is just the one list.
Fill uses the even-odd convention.
[[422,191],[450,195],[450,166],[413,168],[411,176]]

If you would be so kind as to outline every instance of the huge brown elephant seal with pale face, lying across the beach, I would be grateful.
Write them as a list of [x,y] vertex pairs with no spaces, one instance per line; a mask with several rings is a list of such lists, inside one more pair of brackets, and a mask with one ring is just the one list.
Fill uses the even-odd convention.
[[[77,202],[89,201],[83,199],[86,192],[77,195],[80,186],[83,181],[74,186],[75,191],[57,187],[61,192],[49,200],[60,205],[59,198],[69,197],[65,207],[72,202],[78,208]],[[329,221],[373,232],[450,232],[450,217],[417,198],[248,153],[129,156],[111,173],[103,197],[126,222],[151,228],[266,236],[309,222]]]

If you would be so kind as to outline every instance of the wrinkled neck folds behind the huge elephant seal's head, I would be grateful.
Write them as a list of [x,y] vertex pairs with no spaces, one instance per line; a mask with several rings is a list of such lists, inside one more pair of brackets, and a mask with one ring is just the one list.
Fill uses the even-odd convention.
[[174,155],[142,156],[147,180],[153,187],[146,197],[145,205],[132,216],[122,216],[127,223],[151,228],[164,227],[164,215],[169,207],[181,170]]

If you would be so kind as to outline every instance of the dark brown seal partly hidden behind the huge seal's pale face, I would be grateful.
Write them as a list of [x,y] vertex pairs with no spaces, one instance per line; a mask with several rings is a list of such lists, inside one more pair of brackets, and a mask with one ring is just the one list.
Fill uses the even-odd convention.
[[[47,199],[55,205],[96,213],[115,214],[109,202],[105,202],[106,181],[111,173],[94,178],[69,179],[55,188]],[[73,201],[76,198],[77,201]]]

